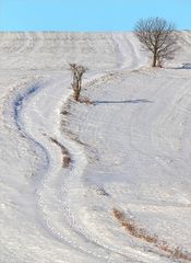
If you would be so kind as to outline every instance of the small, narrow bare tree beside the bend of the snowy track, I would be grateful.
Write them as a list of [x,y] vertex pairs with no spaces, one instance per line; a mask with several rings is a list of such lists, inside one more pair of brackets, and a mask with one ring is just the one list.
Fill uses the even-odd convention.
[[72,89],[73,98],[79,101],[82,89],[82,77],[87,71],[87,68],[76,64],[70,64],[70,70],[72,72]]

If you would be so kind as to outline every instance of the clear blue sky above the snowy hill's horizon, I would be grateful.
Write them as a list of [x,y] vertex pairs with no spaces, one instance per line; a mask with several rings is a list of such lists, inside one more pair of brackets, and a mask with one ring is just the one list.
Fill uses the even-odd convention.
[[191,0],[0,0],[0,31],[131,31],[148,16],[191,30]]

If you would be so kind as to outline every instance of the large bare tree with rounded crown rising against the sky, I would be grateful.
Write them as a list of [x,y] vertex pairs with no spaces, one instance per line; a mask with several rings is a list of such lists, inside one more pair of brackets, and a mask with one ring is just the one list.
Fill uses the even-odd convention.
[[178,49],[175,24],[160,18],[141,19],[134,33],[144,49],[152,53],[152,67],[162,67],[165,60],[174,58]]

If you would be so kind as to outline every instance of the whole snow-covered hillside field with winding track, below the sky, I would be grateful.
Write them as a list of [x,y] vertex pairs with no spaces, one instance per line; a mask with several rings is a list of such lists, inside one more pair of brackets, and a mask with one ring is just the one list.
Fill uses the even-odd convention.
[[[191,262],[180,43],[152,69],[132,33],[0,33],[0,263]],[[69,100],[69,62],[92,104]]]

